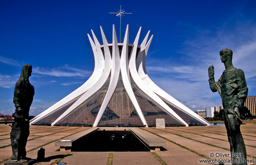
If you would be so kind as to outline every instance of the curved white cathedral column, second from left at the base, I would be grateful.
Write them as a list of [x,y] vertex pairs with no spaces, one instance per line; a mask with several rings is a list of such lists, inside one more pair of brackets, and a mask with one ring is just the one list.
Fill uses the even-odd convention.
[[[100,43],[98,39],[96,38],[95,34],[92,31],[93,39],[96,44],[96,51],[103,57],[103,53],[100,49]],[[96,81],[96,83],[88,89],[83,96],[81,96],[75,103],[71,105],[69,109],[67,109],[63,114],[61,114],[53,123],[52,126],[54,126],[58,121],[60,121],[63,117],[65,117],[67,114],[69,114],[72,110],[74,110],[76,107],[78,107],[81,103],[85,102],[90,96],[92,96],[94,93],[96,93],[107,81],[108,76],[110,75],[111,71],[111,55],[110,53],[104,53],[105,61],[103,59],[104,64],[104,70],[102,72],[102,75],[100,76],[99,80]]]

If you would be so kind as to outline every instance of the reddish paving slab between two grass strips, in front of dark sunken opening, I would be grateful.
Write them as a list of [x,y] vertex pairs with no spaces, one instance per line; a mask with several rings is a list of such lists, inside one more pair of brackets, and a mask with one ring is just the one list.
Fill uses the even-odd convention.
[[151,152],[114,152],[113,165],[161,165]]

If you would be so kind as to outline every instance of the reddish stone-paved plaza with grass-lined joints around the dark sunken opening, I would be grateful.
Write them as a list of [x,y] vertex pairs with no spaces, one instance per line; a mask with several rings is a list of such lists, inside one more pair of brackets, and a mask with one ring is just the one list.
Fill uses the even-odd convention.
[[[199,161],[228,161],[229,143],[225,126],[211,127],[141,127],[166,141],[165,151],[156,152],[60,152],[57,140],[81,132],[90,127],[30,126],[26,146],[27,156],[37,158],[38,150],[45,149],[44,162],[34,165],[208,165]],[[256,162],[256,124],[241,126],[247,150],[247,159]],[[12,155],[11,127],[0,125],[0,165]],[[226,155],[225,155],[226,154]],[[218,165],[218,163],[211,163]],[[210,164],[209,164],[210,165]],[[225,163],[226,165],[226,163]],[[248,163],[256,165],[256,163]]]

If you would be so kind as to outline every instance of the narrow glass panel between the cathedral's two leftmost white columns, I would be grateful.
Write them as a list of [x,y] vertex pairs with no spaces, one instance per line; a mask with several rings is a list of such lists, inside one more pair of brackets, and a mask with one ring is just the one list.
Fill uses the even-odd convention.
[[[84,93],[83,93],[84,94]],[[71,105],[76,102],[83,94],[80,96],[76,97],[75,99],[71,100],[70,102],[62,105],[61,107],[57,108],[50,114],[47,114],[44,116],[42,119],[38,120],[32,125],[47,125],[50,126],[61,114],[63,114]]]

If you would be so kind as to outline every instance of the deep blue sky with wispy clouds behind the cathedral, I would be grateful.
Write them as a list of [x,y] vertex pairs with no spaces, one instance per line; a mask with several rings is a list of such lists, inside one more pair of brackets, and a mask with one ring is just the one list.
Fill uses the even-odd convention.
[[[224,68],[219,51],[234,52],[233,64],[244,71],[248,95],[256,95],[255,0],[0,0],[0,113],[14,113],[13,92],[23,64],[33,66],[35,87],[30,115],[44,111],[80,87],[94,69],[87,33],[101,38],[100,25],[112,42],[119,36],[122,8],[133,13],[129,42],[142,26],[154,35],[146,58],[151,79],[192,110],[220,106],[208,85],[208,66],[215,80]],[[101,42],[102,43],[102,42]]]

